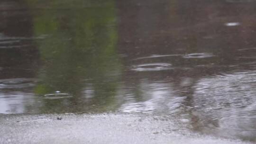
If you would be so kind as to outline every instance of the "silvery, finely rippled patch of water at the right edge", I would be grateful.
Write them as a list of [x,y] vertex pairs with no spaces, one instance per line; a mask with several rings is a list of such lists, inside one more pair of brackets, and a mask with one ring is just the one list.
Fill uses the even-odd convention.
[[197,117],[204,119],[205,125],[210,125],[211,119],[218,119],[219,125],[218,129],[209,130],[206,126],[204,130],[214,135],[253,138],[256,134],[255,76],[255,71],[234,72],[198,81],[193,94],[193,105],[198,106],[194,107]]

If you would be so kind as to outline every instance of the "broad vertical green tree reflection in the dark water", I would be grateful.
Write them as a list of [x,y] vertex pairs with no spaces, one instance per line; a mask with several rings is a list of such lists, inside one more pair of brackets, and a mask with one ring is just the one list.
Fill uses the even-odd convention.
[[[115,107],[120,64],[116,54],[114,0],[27,0],[34,12],[34,35],[43,67],[38,72],[39,96],[58,90],[70,99],[44,99],[40,111],[88,112]],[[86,100],[90,84],[93,97]]]

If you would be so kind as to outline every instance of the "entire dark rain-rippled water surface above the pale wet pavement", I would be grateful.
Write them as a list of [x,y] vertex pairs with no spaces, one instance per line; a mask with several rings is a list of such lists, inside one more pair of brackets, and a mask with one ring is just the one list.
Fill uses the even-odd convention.
[[255,24],[255,0],[1,0],[0,117],[165,115],[254,143]]

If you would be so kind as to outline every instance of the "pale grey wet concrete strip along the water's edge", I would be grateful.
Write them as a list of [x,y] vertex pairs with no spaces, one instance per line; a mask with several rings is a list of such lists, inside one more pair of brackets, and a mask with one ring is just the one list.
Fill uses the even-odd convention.
[[0,115],[0,144],[252,144],[192,133],[148,114]]

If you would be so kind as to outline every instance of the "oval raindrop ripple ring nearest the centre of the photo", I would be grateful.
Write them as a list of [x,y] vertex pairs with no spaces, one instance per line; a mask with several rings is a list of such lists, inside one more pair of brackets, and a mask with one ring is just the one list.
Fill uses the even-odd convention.
[[144,72],[144,71],[163,71],[173,69],[170,63],[146,63],[134,65],[131,70]]

